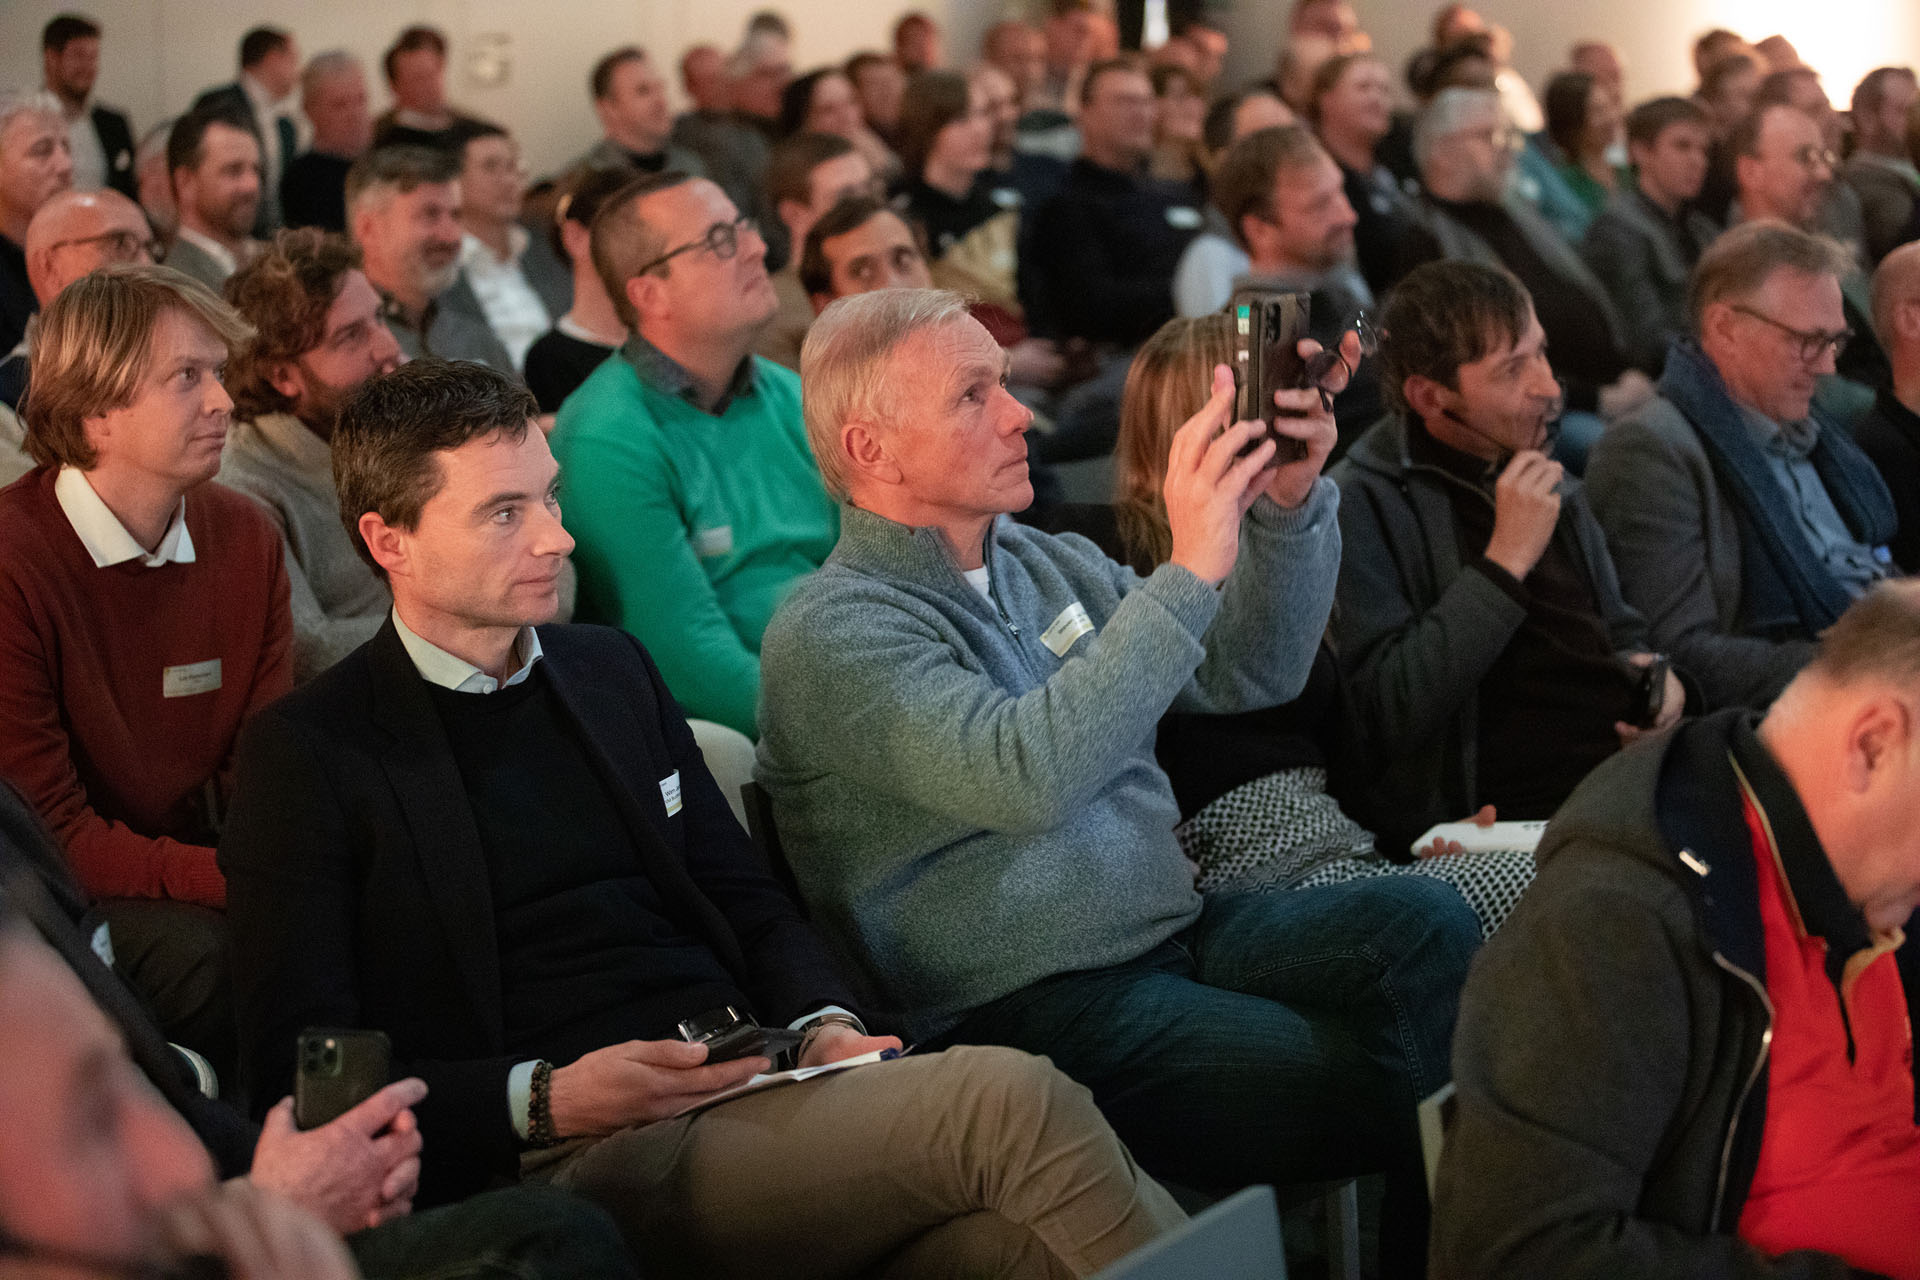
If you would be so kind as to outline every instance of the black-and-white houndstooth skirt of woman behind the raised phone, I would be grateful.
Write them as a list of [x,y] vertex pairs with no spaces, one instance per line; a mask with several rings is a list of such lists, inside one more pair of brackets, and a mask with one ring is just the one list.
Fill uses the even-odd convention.
[[1327,794],[1327,770],[1267,773],[1219,796],[1175,827],[1200,867],[1200,892],[1317,889],[1373,875],[1427,875],[1459,890],[1492,936],[1534,879],[1532,854],[1450,854],[1388,862],[1373,835]]

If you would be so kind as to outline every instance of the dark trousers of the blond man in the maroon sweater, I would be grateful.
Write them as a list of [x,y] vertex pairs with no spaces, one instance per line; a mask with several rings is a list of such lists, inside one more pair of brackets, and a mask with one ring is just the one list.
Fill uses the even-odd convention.
[[238,1098],[240,1032],[227,915],[159,898],[109,898],[100,915],[113,938],[113,971],[146,1002],[169,1040],[213,1063],[221,1096]]

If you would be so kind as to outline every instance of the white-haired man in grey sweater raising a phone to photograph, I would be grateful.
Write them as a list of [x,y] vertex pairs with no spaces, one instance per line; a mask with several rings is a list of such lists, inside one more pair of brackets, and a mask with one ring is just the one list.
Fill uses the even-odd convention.
[[1413,1103],[1446,1077],[1473,912],[1411,875],[1202,900],[1154,764],[1169,706],[1306,683],[1340,560],[1332,415],[1279,391],[1277,445],[1229,422],[1217,367],[1142,580],[1008,520],[1033,415],[1006,359],[933,290],[843,297],[806,338],[841,537],[766,629],[756,768],[801,889],[916,1040],[1048,1055],[1162,1176],[1386,1171],[1382,1270],[1415,1274]]

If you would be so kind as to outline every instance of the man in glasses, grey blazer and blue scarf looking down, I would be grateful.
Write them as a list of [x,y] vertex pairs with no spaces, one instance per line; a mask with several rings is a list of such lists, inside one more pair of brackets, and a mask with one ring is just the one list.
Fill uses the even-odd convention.
[[1849,271],[1837,242],[1772,219],[1720,236],[1693,269],[1693,336],[1668,349],[1659,399],[1588,464],[1626,599],[1715,706],[1766,706],[1895,572],[1887,486],[1814,405],[1853,336]]

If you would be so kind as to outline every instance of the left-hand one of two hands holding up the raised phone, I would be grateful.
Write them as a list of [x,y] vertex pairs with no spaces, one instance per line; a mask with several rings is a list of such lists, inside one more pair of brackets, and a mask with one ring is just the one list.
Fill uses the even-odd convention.
[[[1317,393],[1315,405],[1319,403]],[[1265,487],[1261,470],[1273,462],[1265,422],[1233,422],[1233,370],[1213,367],[1213,395],[1173,434],[1167,451],[1167,528],[1181,568],[1219,585],[1240,555],[1240,516]],[[1254,445],[1246,457],[1240,449]]]

